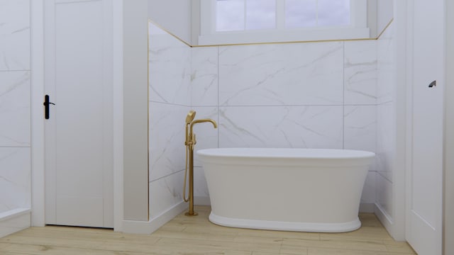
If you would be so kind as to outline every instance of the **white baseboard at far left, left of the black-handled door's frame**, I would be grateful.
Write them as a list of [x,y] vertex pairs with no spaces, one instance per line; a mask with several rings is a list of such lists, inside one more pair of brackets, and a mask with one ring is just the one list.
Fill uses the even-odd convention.
[[30,227],[30,208],[18,208],[0,213],[0,237],[19,232]]

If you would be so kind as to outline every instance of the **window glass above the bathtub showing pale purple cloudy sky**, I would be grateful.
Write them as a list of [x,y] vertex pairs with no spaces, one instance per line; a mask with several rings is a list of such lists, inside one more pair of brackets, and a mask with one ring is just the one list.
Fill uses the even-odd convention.
[[[216,31],[350,25],[350,0],[216,0]],[[285,22],[276,22],[284,18]]]

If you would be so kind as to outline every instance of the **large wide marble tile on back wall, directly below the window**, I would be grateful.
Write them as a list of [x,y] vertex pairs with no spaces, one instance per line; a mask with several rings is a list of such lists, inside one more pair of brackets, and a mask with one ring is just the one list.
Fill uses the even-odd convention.
[[338,105],[343,42],[219,47],[220,106]]

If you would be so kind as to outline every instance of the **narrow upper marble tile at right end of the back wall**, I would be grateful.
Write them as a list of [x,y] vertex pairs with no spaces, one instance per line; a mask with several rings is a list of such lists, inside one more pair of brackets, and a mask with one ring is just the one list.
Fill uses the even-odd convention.
[[377,103],[377,42],[345,42],[344,103]]

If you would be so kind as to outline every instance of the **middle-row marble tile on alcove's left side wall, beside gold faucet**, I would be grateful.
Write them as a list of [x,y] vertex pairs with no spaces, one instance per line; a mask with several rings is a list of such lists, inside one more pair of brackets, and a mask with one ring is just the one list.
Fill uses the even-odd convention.
[[186,106],[150,103],[150,181],[184,169]]

